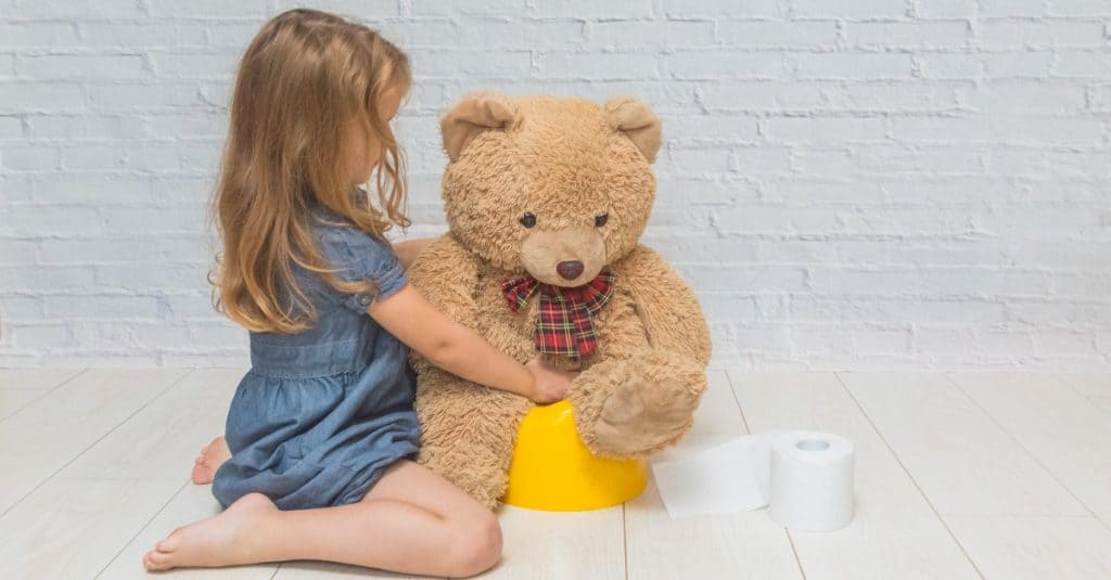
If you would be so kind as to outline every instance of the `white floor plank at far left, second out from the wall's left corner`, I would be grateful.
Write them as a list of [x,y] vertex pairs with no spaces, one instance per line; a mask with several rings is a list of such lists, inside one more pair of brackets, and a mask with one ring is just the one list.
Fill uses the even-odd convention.
[[0,513],[188,372],[89,370],[0,421]]

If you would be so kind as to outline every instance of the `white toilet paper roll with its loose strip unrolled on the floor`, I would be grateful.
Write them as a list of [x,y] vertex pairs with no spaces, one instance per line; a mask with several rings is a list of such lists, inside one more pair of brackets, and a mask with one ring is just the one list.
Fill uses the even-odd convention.
[[852,520],[852,443],[830,433],[773,431],[652,462],[672,518],[769,507],[791,529],[828,531]]

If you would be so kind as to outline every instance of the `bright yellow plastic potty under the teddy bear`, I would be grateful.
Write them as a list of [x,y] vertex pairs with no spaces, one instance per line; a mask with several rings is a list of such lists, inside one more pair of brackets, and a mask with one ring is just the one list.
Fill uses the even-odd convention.
[[533,510],[597,510],[640,496],[647,484],[643,460],[594,457],[574,430],[571,403],[560,401],[533,407],[521,421],[501,500]]

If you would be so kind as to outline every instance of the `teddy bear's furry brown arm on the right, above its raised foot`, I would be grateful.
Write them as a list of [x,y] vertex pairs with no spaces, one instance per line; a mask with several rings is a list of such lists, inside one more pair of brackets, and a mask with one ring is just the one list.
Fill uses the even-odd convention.
[[710,329],[694,292],[654,250],[638,246],[618,264],[654,349],[710,362]]

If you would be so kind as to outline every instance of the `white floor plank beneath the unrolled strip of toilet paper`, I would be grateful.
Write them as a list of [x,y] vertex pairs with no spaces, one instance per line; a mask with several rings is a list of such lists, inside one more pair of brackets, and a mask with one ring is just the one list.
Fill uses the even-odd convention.
[[[745,433],[729,379],[710,373],[694,416],[694,428],[679,447],[659,459],[678,457]],[[672,520],[654,481],[625,504],[629,578],[801,578],[783,529],[763,510]]]

